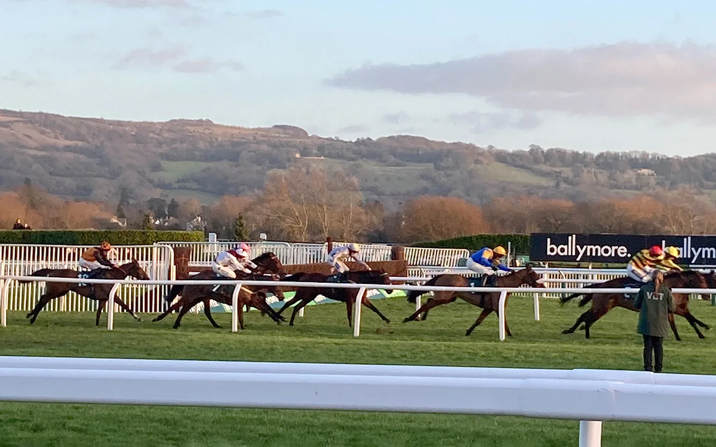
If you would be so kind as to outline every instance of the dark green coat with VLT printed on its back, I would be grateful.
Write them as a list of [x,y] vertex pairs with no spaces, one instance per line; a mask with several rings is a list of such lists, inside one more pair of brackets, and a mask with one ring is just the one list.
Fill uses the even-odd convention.
[[654,337],[666,337],[669,334],[669,313],[674,312],[674,298],[671,290],[664,284],[659,293],[654,293],[654,283],[648,283],[639,289],[634,307],[639,309],[637,332]]

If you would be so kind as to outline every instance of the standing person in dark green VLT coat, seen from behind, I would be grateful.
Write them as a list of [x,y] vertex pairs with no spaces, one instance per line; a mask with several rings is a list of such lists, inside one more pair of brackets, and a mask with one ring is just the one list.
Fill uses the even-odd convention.
[[658,272],[654,281],[642,286],[634,299],[634,308],[639,309],[637,333],[644,336],[644,370],[652,370],[653,350],[655,373],[662,372],[663,341],[669,333],[669,313],[674,312],[674,298],[663,281],[664,273]]

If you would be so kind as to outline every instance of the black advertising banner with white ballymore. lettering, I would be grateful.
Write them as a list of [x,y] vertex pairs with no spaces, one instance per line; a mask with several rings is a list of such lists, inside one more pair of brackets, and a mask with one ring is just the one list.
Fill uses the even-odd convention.
[[533,233],[530,235],[530,260],[626,264],[639,250],[653,245],[679,248],[678,264],[716,265],[716,236]]

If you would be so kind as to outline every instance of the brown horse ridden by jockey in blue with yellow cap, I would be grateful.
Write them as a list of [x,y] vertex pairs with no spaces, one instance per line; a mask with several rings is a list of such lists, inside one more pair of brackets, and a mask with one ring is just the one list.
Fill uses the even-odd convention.
[[[527,267],[525,267],[523,270],[516,270],[515,272],[511,272],[508,275],[498,276],[495,287],[520,287],[521,285],[529,285],[530,287],[543,288],[544,286],[538,283],[539,278],[539,274],[532,270],[532,266],[527,265]],[[464,277],[463,275],[437,275],[436,277],[433,277],[431,280],[427,281],[425,285],[437,285],[442,287],[470,287],[470,278]],[[425,293],[426,292],[418,290],[411,290],[407,294],[408,303],[415,303],[417,301],[417,297]],[[508,293],[507,297],[509,298],[510,295],[511,294]],[[417,320],[418,315],[420,315],[421,313],[422,318],[420,319],[425,320],[427,318],[428,310],[435,308],[439,305],[453,303],[453,301],[457,300],[458,298],[462,298],[468,303],[478,306],[478,308],[483,308],[482,313],[480,313],[478,319],[475,320],[475,324],[470,326],[470,328],[465,332],[465,335],[470,335],[473,330],[475,330],[475,328],[477,328],[478,325],[483,322],[485,317],[490,315],[490,313],[494,312],[499,315],[500,292],[435,292],[434,297],[429,298],[427,302],[420,307],[420,309],[416,310],[415,313],[410,315],[410,317],[405,318],[405,320],[403,320],[403,323]],[[507,300],[505,300],[505,308],[506,305]],[[507,315],[505,315],[505,331],[507,332],[507,335],[509,337],[512,336],[510,328],[507,325]]]

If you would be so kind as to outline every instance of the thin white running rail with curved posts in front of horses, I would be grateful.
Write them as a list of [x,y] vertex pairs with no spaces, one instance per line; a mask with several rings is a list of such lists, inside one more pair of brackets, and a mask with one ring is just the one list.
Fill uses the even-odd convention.
[[[85,280],[79,278],[60,278],[60,277],[35,277],[35,276],[0,276],[3,286],[0,294],[0,326],[5,327],[7,325],[7,295],[11,283],[14,280],[20,281],[34,281],[34,282],[52,282],[52,283],[93,283],[93,284],[113,284],[112,292],[110,293],[110,300],[114,299],[117,288],[123,284],[154,284],[154,285],[205,285],[205,280],[173,280],[173,281],[161,281],[161,280]],[[304,288],[326,288],[327,283],[303,283],[298,281],[249,281],[249,280],[214,280],[213,283],[222,283],[236,285],[233,290],[232,297],[232,324],[231,330],[237,332],[238,324],[238,293],[241,290],[242,285],[284,285],[286,287],[304,287]],[[508,293],[635,293],[637,290],[633,288],[485,288],[485,287],[441,287],[441,286],[425,286],[425,285],[377,285],[377,284],[353,284],[353,283],[329,283],[330,288],[337,289],[358,289],[359,292],[356,296],[355,303],[355,314],[354,314],[354,336],[360,335],[360,318],[361,318],[361,300],[363,294],[369,289],[383,289],[383,290],[419,290],[424,292],[470,292],[470,293],[496,293],[500,292],[500,302],[498,308],[499,318],[499,336],[500,340],[505,340],[505,301],[507,300]],[[674,293],[684,294],[710,294],[716,293],[716,289],[684,289],[674,288]],[[107,306],[107,329],[112,330],[114,321],[115,306]],[[536,315],[538,308],[536,308]],[[536,318],[538,319],[538,318]]]

